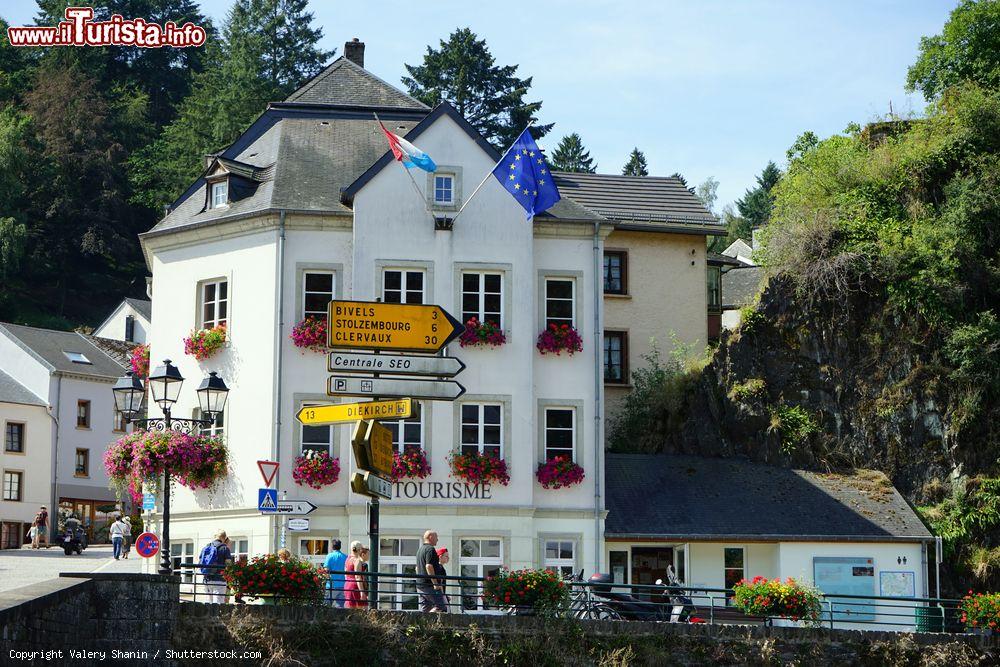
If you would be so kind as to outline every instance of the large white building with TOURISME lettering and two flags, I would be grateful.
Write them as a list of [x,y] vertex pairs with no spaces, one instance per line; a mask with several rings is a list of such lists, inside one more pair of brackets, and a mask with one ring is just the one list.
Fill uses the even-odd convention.
[[[419,195],[391,161],[373,112],[437,162],[433,176],[415,174]],[[367,499],[348,484],[350,426],[304,428],[294,419],[303,405],[332,402],[325,355],[301,352],[289,338],[331,298],[354,298],[440,304],[463,321],[489,315],[507,336],[498,349],[450,345],[468,366],[457,378],[467,393],[454,403],[425,402],[419,417],[394,425],[396,445],[420,445],[433,471],[396,484],[382,504],[383,569],[412,570],[428,528],[455,554],[454,572],[599,567],[600,276],[611,225],[568,199],[526,222],[492,177],[453,228],[443,223],[498,159],[449,105],[428,109],[340,58],[272,104],[142,235],[153,274],[153,365],[172,359],[189,384],[218,370],[231,388],[221,428],[232,474],[214,496],[175,491],[178,561],[193,559],[219,528],[239,553],[276,548],[276,519],[256,508],[258,459],[280,462],[276,484],[289,498],[319,506],[308,532],[288,536],[293,551],[322,559],[334,538],[367,541]],[[571,321],[583,351],[541,355],[535,342],[549,321]],[[224,350],[204,363],[184,354],[184,336],[220,322],[228,329]],[[192,414],[192,389],[182,392],[175,416]],[[583,483],[541,487],[535,469],[546,443],[568,443],[558,451],[585,468]],[[297,486],[292,462],[305,449],[339,457],[339,481],[320,491]],[[460,449],[498,452],[510,484],[454,484],[447,457]]]

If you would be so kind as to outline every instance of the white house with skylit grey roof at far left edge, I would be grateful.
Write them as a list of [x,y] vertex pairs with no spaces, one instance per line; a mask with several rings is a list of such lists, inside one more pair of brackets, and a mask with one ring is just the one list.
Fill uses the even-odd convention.
[[[0,421],[5,439],[19,437],[23,449],[4,446],[3,521],[30,520],[44,504],[53,519],[74,512],[92,537],[100,536],[107,522],[100,508],[115,504],[104,451],[125,431],[111,394],[125,372],[123,347],[72,331],[0,323],[0,371],[6,378],[0,386],[7,387]],[[21,499],[7,500],[16,496],[15,482]],[[58,522],[50,521],[50,528],[57,530]]]

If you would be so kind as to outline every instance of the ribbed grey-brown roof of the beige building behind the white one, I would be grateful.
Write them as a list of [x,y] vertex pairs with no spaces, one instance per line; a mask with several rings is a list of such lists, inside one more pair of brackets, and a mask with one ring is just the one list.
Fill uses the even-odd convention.
[[677,178],[552,172],[559,193],[609,220],[724,228]]

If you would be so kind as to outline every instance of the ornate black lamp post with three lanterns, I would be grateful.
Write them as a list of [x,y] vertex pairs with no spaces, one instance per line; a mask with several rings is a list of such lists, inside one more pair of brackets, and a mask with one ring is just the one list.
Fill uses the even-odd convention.
[[[146,431],[182,431],[193,433],[201,427],[211,426],[216,417],[226,407],[229,387],[214,371],[208,374],[195,393],[198,394],[198,407],[202,419],[175,419],[170,410],[180,397],[184,377],[169,359],[163,360],[163,365],[149,374],[149,390],[153,402],[160,406],[163,418],[136,419],[142,412],[142,400],[146,389],[142,380],[126,373],[115,383],[112,391],[115,395],[115,408],[127,422],[134,421],[138,428]],[[173,565],[170,560],[170,470],[163,473],[163,535],[160,544],[160,574],[172,574]]]

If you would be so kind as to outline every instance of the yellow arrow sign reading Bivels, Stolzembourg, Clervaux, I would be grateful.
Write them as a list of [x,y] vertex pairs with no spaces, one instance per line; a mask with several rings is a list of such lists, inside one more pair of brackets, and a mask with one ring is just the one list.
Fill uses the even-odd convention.
[[437,352],[465,329],[441,306],[331,301],[327,345],[334,349]]

